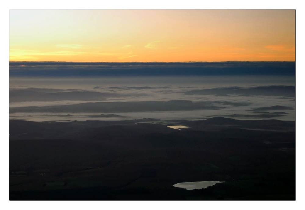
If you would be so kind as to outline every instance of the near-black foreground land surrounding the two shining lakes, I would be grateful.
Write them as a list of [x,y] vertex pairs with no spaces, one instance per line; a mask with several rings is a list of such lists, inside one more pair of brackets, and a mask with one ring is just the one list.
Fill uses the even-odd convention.
[[[173,187],[193,181],[224,183]],[[295,186],[294,121],[10,121],[10,200],[295,200]]]

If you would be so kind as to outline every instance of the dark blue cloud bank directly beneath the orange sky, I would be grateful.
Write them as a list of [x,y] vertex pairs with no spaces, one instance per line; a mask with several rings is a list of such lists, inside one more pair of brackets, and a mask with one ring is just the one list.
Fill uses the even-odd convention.
[[10,62],[10,76],[295,75],[295,62]]

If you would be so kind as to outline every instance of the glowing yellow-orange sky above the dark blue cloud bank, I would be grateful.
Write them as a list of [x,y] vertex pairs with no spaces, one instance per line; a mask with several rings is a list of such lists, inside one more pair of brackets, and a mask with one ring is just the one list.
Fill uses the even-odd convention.
[[10,61],[295,61],[295,10],[10,10]]

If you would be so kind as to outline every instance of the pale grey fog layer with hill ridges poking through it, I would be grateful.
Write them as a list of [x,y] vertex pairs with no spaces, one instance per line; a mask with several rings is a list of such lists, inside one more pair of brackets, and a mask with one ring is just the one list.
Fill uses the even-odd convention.
[[10,78],[10,119],[295,120],[295,77]]

